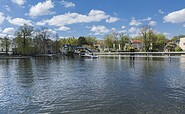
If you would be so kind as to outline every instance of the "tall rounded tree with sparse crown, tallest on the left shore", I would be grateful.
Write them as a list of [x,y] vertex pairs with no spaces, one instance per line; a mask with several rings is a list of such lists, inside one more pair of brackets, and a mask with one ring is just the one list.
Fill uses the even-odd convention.
[[32,32],[33,27],[24,24],[20,26],[15,32],[15,44],[17,51],[22,55],[29,55],[32,53]]

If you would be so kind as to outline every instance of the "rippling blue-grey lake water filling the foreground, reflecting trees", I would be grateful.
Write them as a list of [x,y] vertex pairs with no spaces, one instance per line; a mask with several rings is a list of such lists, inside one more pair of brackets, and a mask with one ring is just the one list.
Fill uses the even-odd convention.
[[0,60],[0,114],[184,114],[185,58]]

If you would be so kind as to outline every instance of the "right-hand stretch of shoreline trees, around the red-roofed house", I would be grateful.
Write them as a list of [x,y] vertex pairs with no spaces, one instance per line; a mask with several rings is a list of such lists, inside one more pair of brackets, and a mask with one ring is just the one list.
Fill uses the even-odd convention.
[[137,37],[131,38],[123,33],[111,33],[104,38],[105,47],[111,50],[129,51],[134,48],[132,40],[139,40],[142,44],[142,49],[137,51],[182,51],[177,45],[180,38],[185,35],[174,36],[171,40],[166,38],[163,34],[155,33],[149,26],[144,26],[139,30]]

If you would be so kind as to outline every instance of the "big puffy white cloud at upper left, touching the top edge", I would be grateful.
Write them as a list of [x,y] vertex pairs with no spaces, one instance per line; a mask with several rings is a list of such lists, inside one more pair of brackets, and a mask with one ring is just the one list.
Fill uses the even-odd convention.
[[30,17],[37,17],[42,15],[53,14],[50,9],[54,8],[54,4],[51,0],[46,0],[45,2],[39,2],[37,5],[32,6],[29,10]]

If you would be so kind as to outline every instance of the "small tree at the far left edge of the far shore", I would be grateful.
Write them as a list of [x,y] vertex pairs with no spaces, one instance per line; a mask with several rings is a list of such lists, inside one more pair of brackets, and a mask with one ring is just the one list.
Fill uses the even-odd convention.
[[8,51],[10,48],[10,39],[8,38],[8,35],[1,39],[1,47],[5,49],[6,55],[8,55]]

